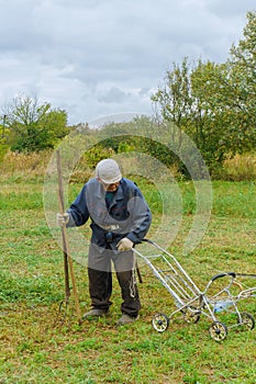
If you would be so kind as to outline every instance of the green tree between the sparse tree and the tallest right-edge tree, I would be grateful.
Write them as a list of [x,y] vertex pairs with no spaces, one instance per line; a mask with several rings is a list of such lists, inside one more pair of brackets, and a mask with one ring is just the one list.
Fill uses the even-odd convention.
[[199,60],[190,78],[193,108],[187,133],[194,139],[208,165],[216,167],[234,146],[230,129],[231,108],[226,103],[233,92],[227,66]]

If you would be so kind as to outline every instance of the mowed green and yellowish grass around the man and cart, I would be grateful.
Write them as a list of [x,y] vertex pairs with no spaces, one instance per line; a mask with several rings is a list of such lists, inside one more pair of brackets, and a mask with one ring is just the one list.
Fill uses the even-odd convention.
[[[80,187],[70,185],[70,201]],[[208,229],[200,245],[182,256],[196,203],[192,183],[180,183],[182,222],[169,246],[202,287],[220,271],[256,273],[255,183],[213,182],[212,187]],[[142,190],[153,206],[154,231],[160,217],[159,196],[146,183]],[[235,328],[218,343],[209,336],[205,317],[194,325],[174,321],[163,334],[153,329],[153,315],[170,314],[174,303],[143,263],[138,321],[115,326],[121,297],[114,279],[110,315],[78,325],[73,296],[67,308],[59,307],[65,297],[63,252],[45,219],[42,182],[1,182],[0,231],[0,383],[256,382],[255,330]],[[74,268],[85,312],[90,306],[87,271],[78,263]],[[243,305],[256,316],[255,297]]]

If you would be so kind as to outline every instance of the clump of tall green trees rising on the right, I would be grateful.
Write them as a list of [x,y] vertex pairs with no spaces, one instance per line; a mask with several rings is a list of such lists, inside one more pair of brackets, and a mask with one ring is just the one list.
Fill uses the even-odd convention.
[[194,140],[210,170],[256,144],[256,13],[247,19],[245,38],[226,63],[174,64],[152,98],[163,120],[178,127],[172,131]]

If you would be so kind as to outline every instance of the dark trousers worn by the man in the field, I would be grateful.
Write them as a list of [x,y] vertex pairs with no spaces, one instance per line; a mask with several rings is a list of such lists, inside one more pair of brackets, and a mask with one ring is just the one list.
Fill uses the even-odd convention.
[[[112,304],[112,270],[113,262],[122,294],[121,312],[136,317],[141,309],[138,290],[135,278],[135,260],[133,251],[114,253],[111,249],[102,252],[91,245],[88,257],[89,293],[93,308],[108,310]],[[112,261],[112,262],[111,262]]]

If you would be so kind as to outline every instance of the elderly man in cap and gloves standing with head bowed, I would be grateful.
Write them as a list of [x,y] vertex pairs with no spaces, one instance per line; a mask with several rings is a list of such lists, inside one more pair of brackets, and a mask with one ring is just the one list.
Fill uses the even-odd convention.
[[67,227],[84,225],[89,218],[92,236],[88,276],[92,308],[84,318],[109,313],[113,262],[122,294],[122,316],[118,325],[133,323],[138,318],[141,302],[132,248],[146,235],[152,215],[140,189],[122,177],[113,159],[101,160],[96,167],[96,177],[84,185],[69,210],[64,215],[57,214],[58,224]]

